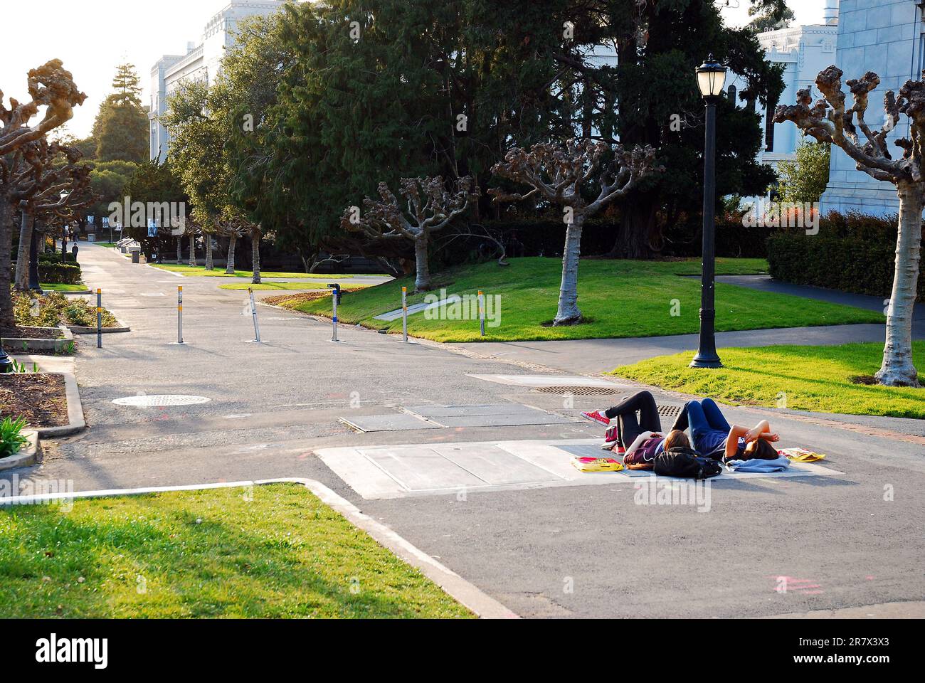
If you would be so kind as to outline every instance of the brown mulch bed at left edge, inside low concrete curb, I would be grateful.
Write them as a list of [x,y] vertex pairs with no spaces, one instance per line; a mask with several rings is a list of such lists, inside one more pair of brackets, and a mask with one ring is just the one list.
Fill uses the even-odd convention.
[[68,424],[68,398],[61,375],[0,375],[0,419],[26,418],[31,428]]

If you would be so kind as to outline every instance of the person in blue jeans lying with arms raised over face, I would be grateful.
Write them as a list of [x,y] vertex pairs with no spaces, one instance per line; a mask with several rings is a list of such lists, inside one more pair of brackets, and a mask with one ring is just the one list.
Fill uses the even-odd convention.
[[768,420],[761,420],[753,428],[730,425],[713,399],[685,404],[672,429],[688,427],[694,440],[694,450],[715,460],[769,460],[777,457],[769,441],[780,441],[780,437],[771,431]]

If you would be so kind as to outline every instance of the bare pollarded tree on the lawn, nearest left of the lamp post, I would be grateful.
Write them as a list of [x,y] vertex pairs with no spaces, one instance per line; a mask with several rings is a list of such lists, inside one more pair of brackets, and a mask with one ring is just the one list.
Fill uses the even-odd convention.
[[[496,202],[517,202],[536,195],[538,199],[563,210],[565,248],[562,252],[562,281],[559,308],[553,325],[573,325],[581,321],[578,308],[578,260],[581,233],[587,218],[630,192],[636,183],[654,171],[655,150],[647,145],[631,151],[621,145],[592,140],[566,143],[538,143],[524,150],[515,147],[492,168],[492,172],[532,189],[525,194],[499,188],[488,191]],[[584,192],[591,186],[597,197],[588,201]]]

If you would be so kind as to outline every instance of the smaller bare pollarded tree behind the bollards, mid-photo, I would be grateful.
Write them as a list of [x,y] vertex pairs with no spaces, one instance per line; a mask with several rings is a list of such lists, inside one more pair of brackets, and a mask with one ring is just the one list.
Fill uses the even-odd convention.
[[430,267],[427,264],[431,235],[443,230],[478,200],[480,192],[468,176],[447,184],[439,177],[403,178],[400,194],[407,206],[402,210],[399,200],[384,182],[379,183],[381,201],[366,197],[364,212],[350,206],[340,219],[340,226],[366,237],[384,240],[409,240],[414,245],[416,275],[414,291],[431,289]]

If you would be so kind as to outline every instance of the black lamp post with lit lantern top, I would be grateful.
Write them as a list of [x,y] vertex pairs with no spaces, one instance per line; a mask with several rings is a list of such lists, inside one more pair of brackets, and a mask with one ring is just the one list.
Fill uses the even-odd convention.
[[716,233],[716,103],[726,84],[726,68],[710,55],[697,68],[697,87],[707,107],[703,150],[703,272],[700,279],[700,342],[691,367],[722,367],[716,354],[715,233]]

